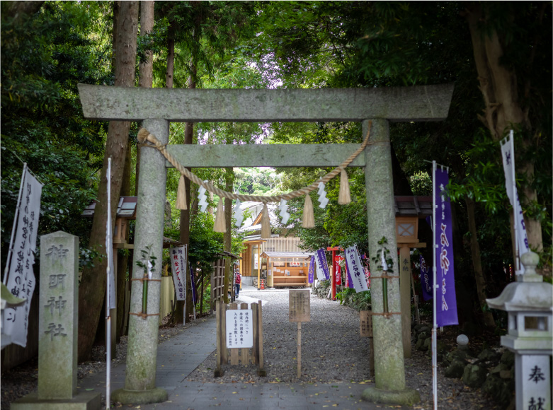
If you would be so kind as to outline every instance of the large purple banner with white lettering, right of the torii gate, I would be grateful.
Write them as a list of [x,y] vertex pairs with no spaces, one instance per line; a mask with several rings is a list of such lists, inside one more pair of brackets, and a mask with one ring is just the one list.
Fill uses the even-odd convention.
[[455,298],[455,275],[453,272],[453,235],[451,224],[451,202],[445,192],[449,175],[443,169],[435,170],[435,220],[436,249],[436,324],[438,327],[459,324],[457,320],[457,298]]

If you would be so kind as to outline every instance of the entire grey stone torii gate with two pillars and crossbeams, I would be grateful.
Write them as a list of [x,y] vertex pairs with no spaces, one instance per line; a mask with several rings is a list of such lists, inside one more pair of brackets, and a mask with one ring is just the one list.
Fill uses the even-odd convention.
[[[121,88],[79,84],[84,117],[98,120],[144,121],[142,126],[162,144],[169,141],[169,122],[362,122],[363,135],[372,121],[370,145],[349,166],[365,167],[369,252],[374,257],[386,248],[395,257],[397,243],[392,185],[389,122],[440,121],[447,117],[453,85],[405,88],[321,88],[278,90],[188,90]],[[167,150],[185,167],[332,167],[340,165],[360,144],[302,145],[181,145]],[[156,149],[140,156],[135,260],[152,245],[161,260],[166,168],[171,167]],[[376,267],[376,266],[375,266]],[[376,269],[375,269],[376,270]],[[160,272],[154,272],[159,279]],[[391,279],[372,281],[375,348],[375,387],[363,398],[375,402],[413,404],[418,392],[405,385],[401,336],[399,265]],[[142,277],[133,270],[133,279]],[[159,312],[159,282],[149,283],[148,313]],[[387,286],[387,311],[384,293]],[[142,307],[140,281],[132,282],[130,312]],[[410,307],[406,307],[410,309]],[[394,314],[395,313],[395,314]],[[156,388],[158,318],[130,316],[125,387],[113,392],[122,403],[164,402],[167,393]]]

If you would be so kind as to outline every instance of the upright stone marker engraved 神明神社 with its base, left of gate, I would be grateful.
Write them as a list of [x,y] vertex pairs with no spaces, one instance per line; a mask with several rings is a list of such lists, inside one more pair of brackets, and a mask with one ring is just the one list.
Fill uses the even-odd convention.
[[100,409],[100,394],[76,389],[79,238],[42,235],[40,250],[38,392],[11,409]]

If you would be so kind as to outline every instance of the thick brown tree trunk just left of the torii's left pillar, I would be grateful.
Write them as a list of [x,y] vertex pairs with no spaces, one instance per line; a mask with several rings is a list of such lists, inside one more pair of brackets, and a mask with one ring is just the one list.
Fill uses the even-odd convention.
[[[135,61],[137,50],[138,2],[120,1],[116,52],[115,86],[135,86]],[[122,173],[129,141],[130,122],[112,121],[108,128],[106,152],[104,153],[98,203],[92,223],[89,246],[101,250],[106,244],[107,207],[111,206],[111,226],[115,225],[115,213],[121,190]],[[108,158],[111,165],[111,204],[108,204],[107,177]],[[79,361],[90,358],[94,336],[101,315],[101,306],[106,293],[106,259],[96,260],[95,266],[83,270],[79,285]]]

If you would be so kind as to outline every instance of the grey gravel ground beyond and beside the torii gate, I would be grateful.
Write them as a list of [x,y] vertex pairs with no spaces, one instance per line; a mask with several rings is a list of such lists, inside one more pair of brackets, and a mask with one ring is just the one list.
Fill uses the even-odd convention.
[[[224,376],[215,378],[215,352],[212,353],[187,380],[207,383],[275,383],[297,382],[297,324],[288,321],[287,291],[242,292],[251,298],[265,300],[263,304],[263,357],[267,377],[256,375],[256,366],[227,365]],[[188,327],[161,327],[159,343],[180,334]],[[79,364],[79,379],[91,373],[105,372],[103,347],[93,351],[93,361]],[[116,362],[125,361],[127,339],[118,344]],[[373,382],[368,366],[368,343],[359,336],[358,312],[331,300],[311,296],[311,322],[302,324],[302,380],[308,383]],[[432,368],[426,353],[415,351],[405,359],[406,384],[421,393],[421,404],[414,409],[432,409]],[[37,388],[37,361],[2,373],[1,408],[9,409],[9,403]],[[464,387],[458,379],[438,376],[438,406],[440,409],[498,409],[481,394],[480,390]]]

